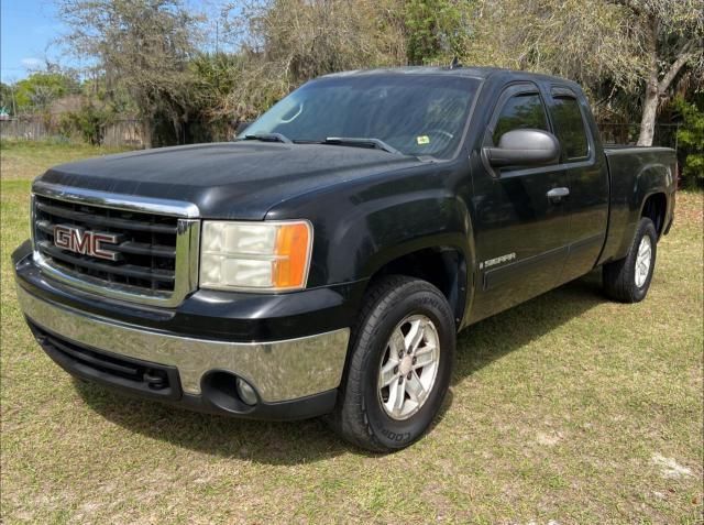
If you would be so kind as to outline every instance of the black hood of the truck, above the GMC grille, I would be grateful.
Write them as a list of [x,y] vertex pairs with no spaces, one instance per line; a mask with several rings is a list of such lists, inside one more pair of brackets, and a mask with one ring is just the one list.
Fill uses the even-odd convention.
[[38,181],[184,200],[205,218],[261,220],[290,197],[419,162],[372,149],[248,141],[89,158],[53,167]]

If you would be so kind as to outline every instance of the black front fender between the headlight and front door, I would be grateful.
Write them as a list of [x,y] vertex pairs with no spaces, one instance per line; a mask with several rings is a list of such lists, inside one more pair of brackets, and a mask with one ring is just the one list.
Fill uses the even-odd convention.
[[[308,286],[370,280],[389,262],[425,249],[453,250],[473,267],[466,160],[341,182],[282,203],[267,219],[314,225]],[[466,274],[459,284],[466,293]]]

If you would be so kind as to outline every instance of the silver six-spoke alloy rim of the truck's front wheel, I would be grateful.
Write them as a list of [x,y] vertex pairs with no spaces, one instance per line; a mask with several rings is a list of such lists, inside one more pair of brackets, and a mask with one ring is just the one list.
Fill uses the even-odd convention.
[[424,315],[411,315],[392,332],[378,371],[377,392],[391,418],[408,419],[428,401],[440,363],[440,337]]

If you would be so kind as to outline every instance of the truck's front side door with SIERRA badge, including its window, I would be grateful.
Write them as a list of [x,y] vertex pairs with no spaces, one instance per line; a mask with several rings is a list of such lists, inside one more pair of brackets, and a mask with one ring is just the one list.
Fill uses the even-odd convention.
[[[484,146],[516,129],[552,133],[540,89],[532,83],[509,86],[490,118]],[[559,165],[508,166],[473,172],[479,282],[475,320],[509,308],[560,284],[568,256],[569,193]]]

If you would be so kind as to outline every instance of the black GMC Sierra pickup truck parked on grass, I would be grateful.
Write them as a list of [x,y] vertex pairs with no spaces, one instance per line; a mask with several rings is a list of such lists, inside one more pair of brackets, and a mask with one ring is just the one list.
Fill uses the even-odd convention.
[[327,415],[399,449],[455,336],[602,267],[641,300],[672,225],[672,150],[604,147],[574,83],[493,68],[309,81],[234,142],[34,181],[18,297],[69,373],[215,414]]

